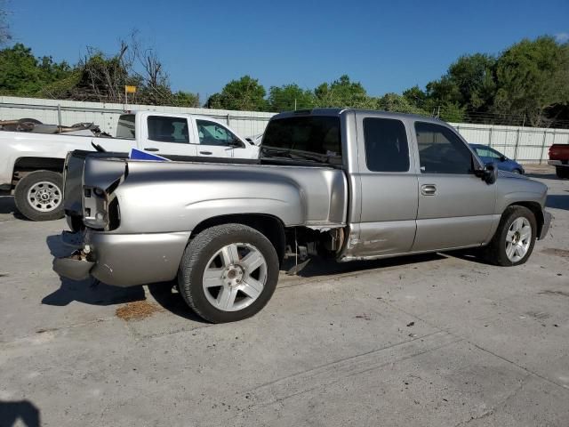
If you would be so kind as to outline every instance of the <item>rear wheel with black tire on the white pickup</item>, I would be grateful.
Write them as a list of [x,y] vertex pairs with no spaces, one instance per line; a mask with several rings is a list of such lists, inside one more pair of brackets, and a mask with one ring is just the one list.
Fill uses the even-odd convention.
[[[49,203],[32,204],[28,192],[41,182],[47,182],[46,189],[51,191],[52,205]],[[57,198],[55,198],[57,197]],[[14,190],[14,201],[20,214],[32,221],[52,221],[63,217],[63,177],[52,171],[36,171],[24,176]],[[39,208],[38,206],[43,206]]]

